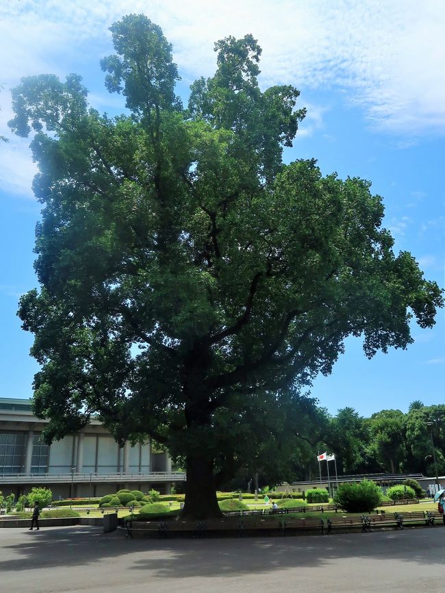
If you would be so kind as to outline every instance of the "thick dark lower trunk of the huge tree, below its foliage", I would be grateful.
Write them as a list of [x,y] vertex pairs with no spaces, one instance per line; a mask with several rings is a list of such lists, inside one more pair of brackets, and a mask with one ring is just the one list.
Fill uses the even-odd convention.
[[213,467],[213,462],[207,459],[187,458],[186,503],[183,517],[207,519],[221,516],[216,500]]

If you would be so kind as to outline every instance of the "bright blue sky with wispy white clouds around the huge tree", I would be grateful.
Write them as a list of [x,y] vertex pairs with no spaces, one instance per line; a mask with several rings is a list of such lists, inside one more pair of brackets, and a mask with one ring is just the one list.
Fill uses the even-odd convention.
[[[35,166],[14,138],[10,88],[20,77],[76,72],[94,107],[118,113],[99,60],[112,53],[107,27],[144,12],[173,43],[186,99],[189,84],[212,75],[214,41],[252,33],[263,48],[260,84],[294,84],[307,107],[285,160],[316,157],[324,173],[372,181],[384,197],[395,249],[409,250],[428,279],[444,286],[445,11],[442,0],[3,0],[0,7],[0,396],[29,397],[37,370],[32,336],[16,317],[20,294],[36,286],[34,227],[40,205],[31,192]],[[335,414],[346,405],[369,416],[407,411],[414,399],[444,402],[444,312],[431,330],[413,327],[407,351],[368,361],[359,339],[346,341],[329,377],[312,394]]]

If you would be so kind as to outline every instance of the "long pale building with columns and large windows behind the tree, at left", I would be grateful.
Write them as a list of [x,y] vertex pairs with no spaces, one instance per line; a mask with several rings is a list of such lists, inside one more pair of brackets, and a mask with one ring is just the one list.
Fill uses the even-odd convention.
[[120,488],[169,493],[173,483],[186,478],[172,468],[168,453],[152,451],[151,442],[120,447],[94,418],[81,432],[51,445],[40,440],[46,424],[34,416],[29,399],[0,398],[4,495],[25,494],[33,486],[50,488],[53,499],[103,496]]

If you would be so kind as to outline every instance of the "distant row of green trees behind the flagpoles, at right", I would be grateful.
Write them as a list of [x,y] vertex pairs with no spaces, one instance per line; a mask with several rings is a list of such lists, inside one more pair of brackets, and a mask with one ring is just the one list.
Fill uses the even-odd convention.
[[[445,405],[424,405],[413,401],[404,414],[399,409],[383,409],[370,418],[360,416],[353,407],[338,410],[335,416],[305,400],[307,409],[300,414],[301,428],[290,422],[287,438],[264,440],[264,449],[257,458],[259,482],[317,479],[317,453],[335,453],[338,475],[378,472],[435,475],[433,438],[437,471],[445,475]],[[432,422],[431,425],[427,424]],[[333,463],[329,469],[334,471]],[[245,488],[253,479],[251,468],[240,468],[236,479],[227,483],[232,488]],[[326,466],[322,466],[326,475]],[[252,488],[254,488],[254,479]]]

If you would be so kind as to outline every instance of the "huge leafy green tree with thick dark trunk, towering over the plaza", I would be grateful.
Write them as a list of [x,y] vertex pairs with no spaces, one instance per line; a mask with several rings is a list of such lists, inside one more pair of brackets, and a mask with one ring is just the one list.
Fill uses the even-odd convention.
[[351,334],[368,357],[405,348],[441,292],[392,251],[368,181],[283,164],[304,110],[292,86],[260,90],[251,35],[216,44],[184,109],[160,27],[130,15],[111,31],[102,67],[125,114],[89,108],[76,75],[13,93],[44,204],[40,289],[19,310],[41,365],[34,409],[48,441],[94,413],[119,442],[185,455],[184,514],[212,516],[216,465],[274,425],[290,386],[329,373]]

